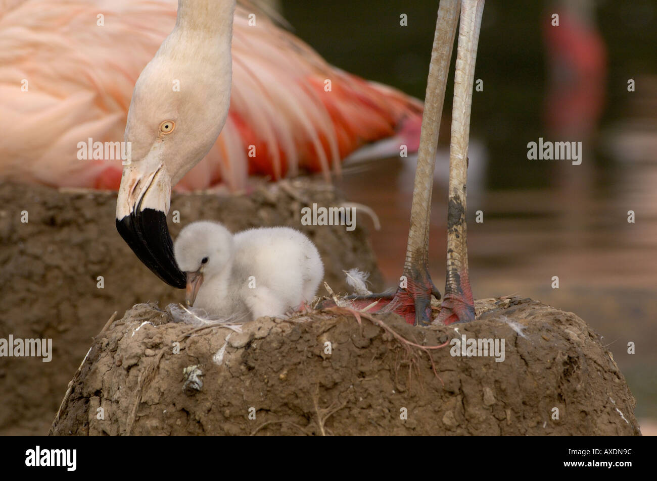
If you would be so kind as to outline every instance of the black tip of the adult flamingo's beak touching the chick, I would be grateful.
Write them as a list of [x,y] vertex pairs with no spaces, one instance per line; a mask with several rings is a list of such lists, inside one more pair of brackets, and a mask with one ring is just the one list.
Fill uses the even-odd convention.
[[185,289],[187,277],[173,257],[173,241],[164,212],[156,209],[132,212],[123,219],[116,219],[116,230],[158,278],[172,287]]

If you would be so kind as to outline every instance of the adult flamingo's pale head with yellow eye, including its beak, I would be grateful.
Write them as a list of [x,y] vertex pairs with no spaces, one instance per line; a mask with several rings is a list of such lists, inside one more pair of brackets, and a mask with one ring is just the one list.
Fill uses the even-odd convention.
[[180,289],[187,281],[166,222],[171,187],[206,156],[226,121],[232,75],[226,36],[173,30],[139,75],[127,115],[131,159],[124,162],[116,227],[154,274]]

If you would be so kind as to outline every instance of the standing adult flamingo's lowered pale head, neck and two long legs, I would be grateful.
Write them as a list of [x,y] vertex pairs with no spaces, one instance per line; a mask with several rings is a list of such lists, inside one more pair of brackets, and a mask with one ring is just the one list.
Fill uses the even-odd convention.
[[[438,322],[474,319],[468,281],[465,184],[474,64],[483,0],[443,0],[438,10],[420,154],[415,177],[411,230],[404,266],[407,284],[376,308],[396,310],[413,324],[428,324],[431,296],[440,298],[428,273],[430,201],[440,115],[453,40],[461,8],[455,73],[449,176],[447,279]],[[163,280],[185,287],[173,260],[166,224],[175,184],[212,146],[225,121],[230,96],[230,45],[235,0],[180,0],[176,27],[141,73],[125,129],[137,145],[137,161],[125,167],[117,202],[117,227],[133,251]],[[194,85],[184,101],[170,92],[172,78]],[[217,79],[219,79],[217,81]],[[181,127],[177,127],[180,125]],[[218,127],[217,127],[218,126]],[[361,299],[371,301],[371,299]]]

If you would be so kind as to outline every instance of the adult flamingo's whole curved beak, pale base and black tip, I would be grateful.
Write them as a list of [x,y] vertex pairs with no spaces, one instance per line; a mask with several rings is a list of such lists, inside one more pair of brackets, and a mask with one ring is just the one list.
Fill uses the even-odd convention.
[[171,176],[159,161],[157,149],[124,167],[116,200],[116,229],[156,276],[185,289],[185,273],[173,257],[166,215],[171,201]]

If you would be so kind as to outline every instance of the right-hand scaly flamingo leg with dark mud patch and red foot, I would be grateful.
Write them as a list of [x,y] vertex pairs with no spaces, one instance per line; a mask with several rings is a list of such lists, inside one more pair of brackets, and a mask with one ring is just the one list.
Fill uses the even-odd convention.
[[466,180],[472,84],[483,12],[484,0],[463,0],[449,145],[447,276],[445,297],[435,321],[438,324],[474,320],[474,299],[468,275]]

